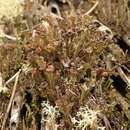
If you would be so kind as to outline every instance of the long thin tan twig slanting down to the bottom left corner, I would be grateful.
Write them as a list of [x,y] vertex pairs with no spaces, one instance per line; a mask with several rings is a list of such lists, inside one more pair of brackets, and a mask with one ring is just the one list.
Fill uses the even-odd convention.
[[10,98],[10,101],[9,101],[9,104],[8,104],[8,107],[7,107],[7,111],[6,111],[6,114],[5,114],[3,123],[2,123],[2,128],[1,128],[1,130],[4,130],[4,129],[5,129],[4,127],[5,127],[5,124],[6,124],[6,120],[7,120],[7,118],[8,118],[8,115],[9,115],[9,111],[10,111],[12,102],[13,102],[13,98],[14,98],[14,95],[15,95],[15,91],[16,91],[16,87],[17,87],[17,83],[18,83],[18,78],[19,78],[20,72],[21,72],[21,69],[17,72],[16,78],[15,78],[15,83],[14,83],[13,90],[12,90],[12,95],[11,95],[11,98]]

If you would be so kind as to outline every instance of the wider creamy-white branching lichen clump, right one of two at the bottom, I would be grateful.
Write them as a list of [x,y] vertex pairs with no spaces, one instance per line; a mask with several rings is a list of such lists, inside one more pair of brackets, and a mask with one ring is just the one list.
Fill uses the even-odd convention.
[[92,128],[97,123],[99,111],[91,110],[88,106],[80,107],[76,116],[71,118],[76,130],[86,130]]

